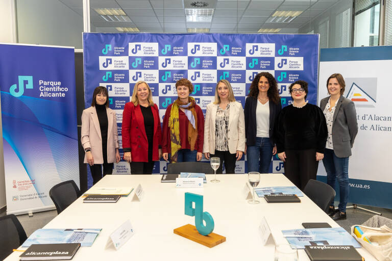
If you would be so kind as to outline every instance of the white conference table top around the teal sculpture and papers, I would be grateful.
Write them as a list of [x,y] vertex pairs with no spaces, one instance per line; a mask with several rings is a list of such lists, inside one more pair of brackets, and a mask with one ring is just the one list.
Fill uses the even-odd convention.
[[[176,189],[175,183],[161,183],[161,175],[106,175],[96,186],[136,188],[141,184],[141,201],[121,197],[117,203],[83,203],[79,198],[44,228],[102,228],[91,247],[81,247],[73,260],[274,260],[274,244],[265,246],[259,234],[263,217],[271,228],[277,244],[285,243],[281,230],[303,228],[303,222],[328,222],[339,227],[308,197],[301,203],[249,204],[243,194],[248,175],[217,175],[219,183],[207,183],[199,189]],[[261,174],[258,187],[293,186],[282,174]],[[173,229],[194,225],[194,217],[184,214],[184,193],[204,195],[204,209],[215,223],[214,233],[226,237],[226,242],[213,248],[174,234]],[[257,196],[256,196],[257,197]],[[119,250],[105,249],[108,237],[122,223],[130,220],[135,234]],[[22,249],[22,248],[19,248]],[[376,260],[364,248],[357,249],[366,261]],[[18,260],[14,252],[5,260]],[[298,250],[299,260],[309,260],[304,250]]]

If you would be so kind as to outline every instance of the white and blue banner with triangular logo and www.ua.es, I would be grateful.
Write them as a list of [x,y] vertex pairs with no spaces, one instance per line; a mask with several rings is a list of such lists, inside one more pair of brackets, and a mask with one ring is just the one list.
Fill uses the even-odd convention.
[[[392,46],[321,49],[318,104],[332,73],[345,78],[344,96],[355,104],[358,134],[349,160],[350,203],[392,208]],[[318,179],[327,180],[323,164]],[[336,193],[339,193],[336,182]],[[337,196],[338,200],[339,197]]]

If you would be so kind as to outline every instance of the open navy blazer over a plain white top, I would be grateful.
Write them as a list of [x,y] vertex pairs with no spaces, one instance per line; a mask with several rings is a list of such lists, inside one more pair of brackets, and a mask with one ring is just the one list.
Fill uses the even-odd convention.
[[[245,101],[245,137],[248,146],[254,146],[256,143],[257,123],[256,123],[257,98],[248,96]],[[272,146],[275,145],[274,126],[279,112],[282,110],[282,103],[279,98],[278,104],[269,100],[269,138]]]

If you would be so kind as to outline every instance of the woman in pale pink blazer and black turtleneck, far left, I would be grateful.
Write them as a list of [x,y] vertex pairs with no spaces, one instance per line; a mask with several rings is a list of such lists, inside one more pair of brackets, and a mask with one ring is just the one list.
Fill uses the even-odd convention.
[[90,165],[93,184],[102,178],[102,172],[104,176],[112,174],[113,163],[120,161],[120,154],[116,113],[109,108],[105,87],[95,88],[91,107],[83,111],[81,142],[86,152],[84,163]]

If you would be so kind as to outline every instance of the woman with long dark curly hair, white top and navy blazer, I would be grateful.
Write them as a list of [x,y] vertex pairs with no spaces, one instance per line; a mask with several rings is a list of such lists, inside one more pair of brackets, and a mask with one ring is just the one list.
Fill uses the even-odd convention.
[[260,72],[253,79],[244,108],[248,172],[269,172],[272,155],[276,154],[274,125],[281,110],[275,77]]

